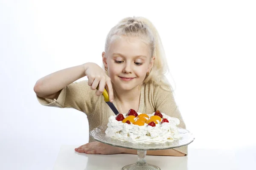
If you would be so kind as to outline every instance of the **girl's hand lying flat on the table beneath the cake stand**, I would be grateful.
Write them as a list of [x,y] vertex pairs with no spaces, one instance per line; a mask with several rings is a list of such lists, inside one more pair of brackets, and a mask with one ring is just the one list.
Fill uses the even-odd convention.
[[77,147],[75,151],[79,153],[87,153],[87,154],[118,154],[122,153],[121,147],[114,147],[109,144],[104,144],[101,142],[90,142],[87,144],[83,144],[80,147]]

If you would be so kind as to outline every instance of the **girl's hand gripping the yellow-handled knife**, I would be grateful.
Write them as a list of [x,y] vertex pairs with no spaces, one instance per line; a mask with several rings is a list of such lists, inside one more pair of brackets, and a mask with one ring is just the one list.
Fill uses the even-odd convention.
[[99,85],[99,90],[96,91],[96,95],[100,96],[105,86],[107,87],[109,101],[113,102],[113,88],[111,84],[111,79],[107,74],[103,71],[103,69],[93,62],[87,62],[84,64],[84,74],[88,78],[88,85],[92,90],[95,90]]

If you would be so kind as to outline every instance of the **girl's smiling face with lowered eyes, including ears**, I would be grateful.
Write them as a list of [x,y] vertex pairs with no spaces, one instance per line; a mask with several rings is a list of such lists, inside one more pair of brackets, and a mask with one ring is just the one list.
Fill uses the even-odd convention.
[[103,55],[103,62],[108,68],[108,75],[115,88],[125,91],[143,82],[154,60],[149,46],[138,37],[122,36],[116,39],[107,55]]

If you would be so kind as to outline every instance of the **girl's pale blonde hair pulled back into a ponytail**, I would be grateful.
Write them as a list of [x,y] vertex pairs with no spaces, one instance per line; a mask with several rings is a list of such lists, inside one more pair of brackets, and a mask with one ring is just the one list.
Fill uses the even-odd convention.
[[[111,28],[105,42],[105,52],[108,53],[109,46],[120,36],[140,37],[148,43],[151,50],[151,57],[155,57],[150,74],[147,75],[143,83],[155,82],[163,89],[170,91],[172,86],[165,74],[169,72],[163,45],[154,25],[144,17],[126,17]],[[108,74],[108,71],[106,71]]]

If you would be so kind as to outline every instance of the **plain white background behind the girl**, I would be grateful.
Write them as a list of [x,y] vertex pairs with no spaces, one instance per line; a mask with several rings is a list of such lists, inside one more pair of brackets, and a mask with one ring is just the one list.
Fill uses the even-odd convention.
[[132,16],[160,33],[196,138],[189,147],[256,145],[255,8],[253,0],[0,0],[0,169],[51,170],[61,145],[88,142],[86,115],[40,105],[33,86],[60,69],[102,65],[108,31]]

